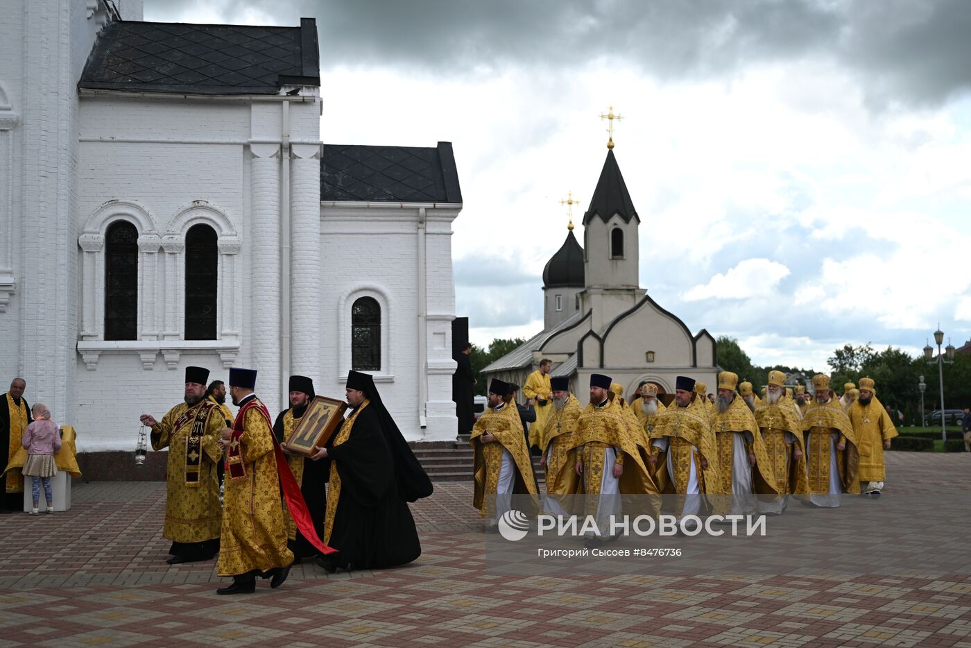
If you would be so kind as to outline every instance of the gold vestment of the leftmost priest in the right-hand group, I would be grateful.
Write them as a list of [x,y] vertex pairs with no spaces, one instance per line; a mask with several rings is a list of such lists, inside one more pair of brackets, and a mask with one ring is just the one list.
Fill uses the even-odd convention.
[[[483,443],[480,437],[486,432],[492,434],[496,440],[492,443]],[[472,426],[469,443],[472,444],[474,452],[472,470],[475,476],[475,491],[472,505],[482,512],[482,517],[486,517],[486,508],[495,503],[503,449],[508,450],[513,456],[513,461],[518,468],[513,493],[539,495],[533,479],[532,460],[526,448],[525,435],[522,433],[522,421],[519,420],[519,410],[515,402],[508,402],[499,410],[487,407],[476,421],[476,425]],[[538,505],[537,501],[536,506]]]

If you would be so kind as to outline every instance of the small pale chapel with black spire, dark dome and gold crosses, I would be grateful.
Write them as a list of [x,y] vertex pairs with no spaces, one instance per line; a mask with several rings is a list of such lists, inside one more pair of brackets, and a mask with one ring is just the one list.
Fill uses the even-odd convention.
[[641,219],[613,137],[607,146],[584,213],[584,245],[571,219],[566,240],[543,269],[543,330],[483,372],[521,386],[549,358],[551,375],[568,376],[570,391],[582,402],[593,373],[611,376],[628,398],[642,381],[673,394],[679,375],[714,387],[720,370],[715,338],[704,328],[692,333],[640,287]]

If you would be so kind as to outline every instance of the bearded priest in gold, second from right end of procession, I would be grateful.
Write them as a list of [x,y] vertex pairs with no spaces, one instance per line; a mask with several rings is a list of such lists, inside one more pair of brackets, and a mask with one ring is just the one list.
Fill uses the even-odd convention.
[[829,377],[813,376],[813,388],[816,401],[802,418],[809,486],[807,503],[835,508],[840,505],[842,493],[859,493],[856,437],[843,406],[829,389]]

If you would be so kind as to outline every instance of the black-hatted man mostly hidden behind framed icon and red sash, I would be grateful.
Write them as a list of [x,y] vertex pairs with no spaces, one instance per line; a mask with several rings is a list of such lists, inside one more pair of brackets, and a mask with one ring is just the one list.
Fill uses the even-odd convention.
[[[314,529],[318,537],[323,535],[323,516],[327,508],[327,477],[330,473],[330,460],[313,460],[310,457],[291,452],[286,447],[285,440],[300,423],[307,406],[314,399],[314,381],[307,376],[290,376],[289,384],[290,408],[285,409],[273,424],[273,433],[280,442],[280,447],[286,455],[286,462],[293,472],[293,477],[300,485],[300,493],[307,502],[307,510],[314,521]],[[318,548],[307,541],[300,529],[297,529],[289,510],[284,504],[284,524],[286,526],[286,547],[293,552],[294,562],[300,563],[305,558],[318,555]]]

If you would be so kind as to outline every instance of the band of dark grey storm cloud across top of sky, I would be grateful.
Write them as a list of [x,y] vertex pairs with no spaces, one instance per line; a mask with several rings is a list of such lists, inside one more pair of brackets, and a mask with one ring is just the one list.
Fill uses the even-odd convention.
[[[202,0],[147,0],[171,19]],[[936,103],[971,87],[964,0],[239,0],[278,24],[316,17],[324,67],[391,64],[444,75],[519,65],[629,63],[661,80],[717,78],[754,62],[831,58],[871,105]]]

